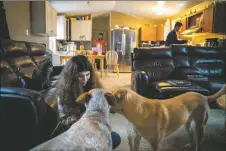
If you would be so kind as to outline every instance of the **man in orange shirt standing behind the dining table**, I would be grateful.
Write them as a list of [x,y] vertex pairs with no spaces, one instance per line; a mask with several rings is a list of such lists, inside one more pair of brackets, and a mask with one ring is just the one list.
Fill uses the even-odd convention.
[[[99,47],[101,47],[101,49],[102,49],[102,55],[105,55],[106,54],[106,50],[107,50],[107,43],[106,43],[106,41],[103,39],[103,33],[99,33],[99,35],[98,35],[98,39],[97,40],[95,40],[95,42],[94,42],[94,44],[95,44],[95,47],[97,48],[97,49],[99,49]],[[98,62],[96,62],[97,64],[98,64],[98,68],[99,68],[99,60],[98,60]],[[104,58],[104,68],[106,67],[106,59]]]

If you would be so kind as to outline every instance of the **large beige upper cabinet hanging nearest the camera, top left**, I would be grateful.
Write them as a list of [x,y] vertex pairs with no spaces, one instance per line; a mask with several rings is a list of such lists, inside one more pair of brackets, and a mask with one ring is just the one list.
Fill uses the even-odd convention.
[[57,11],[48,1],[32,1],[31,32],[42,36],[56,36]]

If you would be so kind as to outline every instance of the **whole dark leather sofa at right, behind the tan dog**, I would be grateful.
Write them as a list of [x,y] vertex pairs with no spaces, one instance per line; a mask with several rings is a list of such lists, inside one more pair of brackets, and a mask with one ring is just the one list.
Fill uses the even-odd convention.
[[[148,98],[166,99],[188,91],[210,95],[226,83],[226,50],[186,45],[135,48],[132,71],[132,89]],[[189,86],[169,80],[188,81]]]

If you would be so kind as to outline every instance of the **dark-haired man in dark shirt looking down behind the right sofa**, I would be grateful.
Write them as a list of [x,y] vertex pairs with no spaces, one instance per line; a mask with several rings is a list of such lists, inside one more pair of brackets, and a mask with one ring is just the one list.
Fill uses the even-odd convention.
[[169,32],[169,34],[167,35],[166,38],[166,46],[170,46],[172,44],[185,44],[187,43],[186,40],[178,40],[177,39],[177,32],[180,31],[180,28],[183,26],[182,23],[180,22],[176,22],[176,24],[174,25],[174,29]]

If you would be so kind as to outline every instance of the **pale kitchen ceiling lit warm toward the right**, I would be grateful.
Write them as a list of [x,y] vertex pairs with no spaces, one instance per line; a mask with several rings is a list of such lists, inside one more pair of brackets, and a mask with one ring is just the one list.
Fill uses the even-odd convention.
[[137,17],[162,20],[201,1],[51,1],[58,13],[67,15],[93,14],[117,11]]

